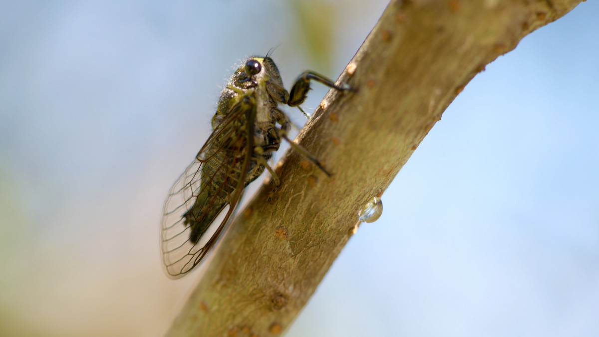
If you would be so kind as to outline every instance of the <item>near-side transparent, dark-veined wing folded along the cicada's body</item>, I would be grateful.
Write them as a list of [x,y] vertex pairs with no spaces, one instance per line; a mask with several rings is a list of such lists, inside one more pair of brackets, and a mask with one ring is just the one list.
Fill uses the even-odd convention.
[[[249,131],[240,133],[240,130],[253,130],[253,116],[255,104],[252,102],[244,104],[242,100],[232,107],[227,118],[215,128],[196,158],[171,186],[164,201],[161,221],[162,261],[170,278],[183,277],[200,263],[219,239],[234,213],[243,194],[244,180],[253,149],[253,139],[249,137]],[[243,124],[246,124],[245,128],[240,127]],[[243,137],[243,142],[239,142],[243,144],[240,148],[222,142],[223,139],[240,137]],[[220,181],[213,180],[215,177]],[[210,186],[210,195],[202,198],[200,202],[201,209],[210,211],[190,214],[192,207],[198,207],[198,196],[205,193]],[[211,223],[210,228],[218,224],[216,230],[213,233],[208,230],[193,240],[190,216],[193,216],[193,219],[207,220]],[[208,218],[205,218],[206,216]]]

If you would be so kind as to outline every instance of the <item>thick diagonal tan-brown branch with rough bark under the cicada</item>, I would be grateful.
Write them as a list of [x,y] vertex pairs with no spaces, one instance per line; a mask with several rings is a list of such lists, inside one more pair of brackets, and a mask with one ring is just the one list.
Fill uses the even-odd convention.
[[272,336],[287,329],[456,95],[485,65],[580,0],[391,1],[299,143],[327,177],[288,152],[281,185],[235,218],[168,336]]

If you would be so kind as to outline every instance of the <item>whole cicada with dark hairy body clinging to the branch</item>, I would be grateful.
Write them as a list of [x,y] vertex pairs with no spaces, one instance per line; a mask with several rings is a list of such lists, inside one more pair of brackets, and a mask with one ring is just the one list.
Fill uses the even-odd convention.
[[[170,278],[189,273],[213,248],[250,182],[267,169],[279,183],[268,160],[282,139],[328,174],[316,158],[289,140],[291,122],[279,110],[279,104],[303,103],[310,80],[340,91],[351,90],[348,85],[337,86],[320,74],[305,71],[288,92],[268,55],[247,59],[231,76],[212,118],[212,134],[164,202],[161,252]],[[210,232],[213,223],[217,227]]]

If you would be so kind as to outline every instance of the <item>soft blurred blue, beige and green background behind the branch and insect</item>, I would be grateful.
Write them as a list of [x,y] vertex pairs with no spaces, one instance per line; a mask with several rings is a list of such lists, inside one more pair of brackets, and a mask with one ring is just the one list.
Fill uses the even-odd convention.
[[[0,335],[162,335],[199,277],[162,272],[162,202],[234,65],[335,78],[386,2],[0,2]],[[599,335],[598,15],[476,76],[288,336]]]

